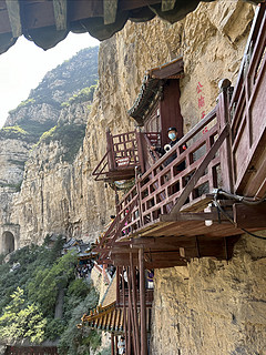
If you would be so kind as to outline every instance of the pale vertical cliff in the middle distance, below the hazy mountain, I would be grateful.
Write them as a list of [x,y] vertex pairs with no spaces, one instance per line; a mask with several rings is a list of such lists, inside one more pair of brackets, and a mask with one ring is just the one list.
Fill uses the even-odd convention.
[[20,245],[41,243],[49,233],[81,237],[86,230],[82,216],[95,215],[86,194],[83,152],[79,152],[89,111],[88,102],[64,109],[58,133],[55,130],[32,150],[13,202],[12,222],[20,224]]

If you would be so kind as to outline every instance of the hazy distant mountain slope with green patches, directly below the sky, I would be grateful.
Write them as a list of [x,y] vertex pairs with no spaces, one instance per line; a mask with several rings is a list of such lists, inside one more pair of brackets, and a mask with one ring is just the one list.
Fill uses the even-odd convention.
[[[32,145],[58,124],[61,112],[70,106],[69,101],[80,99],[90,104],[98,82],[98,47],[83,49],[48,72],[29,98],[10,111],[0,130],[0,187],[20,185]],[[83,138],[85,122],[79,123],[79,135]],[[81,145],[82,139],[78,141]]]

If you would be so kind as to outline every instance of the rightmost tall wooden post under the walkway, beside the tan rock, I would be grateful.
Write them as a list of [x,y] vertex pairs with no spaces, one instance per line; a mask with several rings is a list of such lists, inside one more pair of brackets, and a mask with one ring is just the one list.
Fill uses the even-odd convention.
[[141,355],[147,355],[147,334],[146,334],[146,297],[145,297],[145,268],[144,251],[139,251],[140,262],[140,303],[141,303]]

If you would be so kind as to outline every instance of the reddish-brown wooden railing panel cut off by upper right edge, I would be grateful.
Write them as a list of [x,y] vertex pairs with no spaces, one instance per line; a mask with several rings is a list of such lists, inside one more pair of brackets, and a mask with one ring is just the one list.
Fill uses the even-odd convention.
[[234,192],[263,197],[266,183],[266,3],[257,9],[231,101]]

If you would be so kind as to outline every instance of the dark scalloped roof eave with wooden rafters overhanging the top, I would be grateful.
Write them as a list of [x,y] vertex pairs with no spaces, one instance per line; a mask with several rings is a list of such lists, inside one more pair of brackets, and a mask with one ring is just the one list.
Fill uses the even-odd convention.
[[[212,1],[215,0],[204,2]],[[120,31],[127,20],[143,22],[158,16],[174,23],[198,3],[198,0],[0,0],[0,53],[22,34],[47,50],[70,31],[89,32],[102,41]]]

